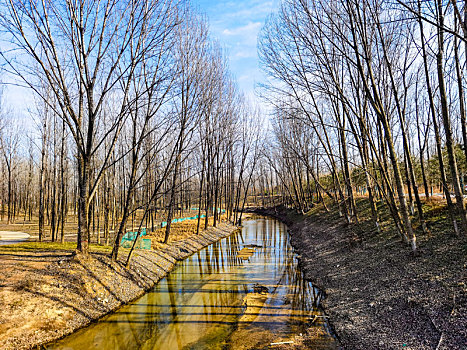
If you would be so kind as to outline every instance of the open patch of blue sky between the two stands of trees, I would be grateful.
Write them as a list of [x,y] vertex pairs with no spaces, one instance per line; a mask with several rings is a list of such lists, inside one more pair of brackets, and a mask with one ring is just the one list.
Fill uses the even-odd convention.
[[192,4],[208,16],[211,35],[226,49],[240,89],[253,99],[255,83],[264,79],[258,66],[258,33],[279,0],[192,0]]

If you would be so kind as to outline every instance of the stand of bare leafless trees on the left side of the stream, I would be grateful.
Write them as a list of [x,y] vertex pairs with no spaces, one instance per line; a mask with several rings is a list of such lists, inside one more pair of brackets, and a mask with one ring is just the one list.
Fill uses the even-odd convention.
[[127,231],[240,220],[259,116],[189,4],[7,1],[0,20],[4,83],[34,92],[27,125],[2,100],[2,221],[115,260]]

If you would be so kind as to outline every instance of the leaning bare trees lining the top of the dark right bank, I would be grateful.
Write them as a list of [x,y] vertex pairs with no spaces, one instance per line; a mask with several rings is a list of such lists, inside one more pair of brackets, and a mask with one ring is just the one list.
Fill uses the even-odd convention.
[[274,106],[263,188],[279,186],[301,212],[330,201],[347,223],[367,197],[373,229],[383,206],[413,251],[416,232],[430,230],[425,203],[443,198],[450,228],[467,234],[466,11],[460,1],[284,1],[259,39],[261,92]]

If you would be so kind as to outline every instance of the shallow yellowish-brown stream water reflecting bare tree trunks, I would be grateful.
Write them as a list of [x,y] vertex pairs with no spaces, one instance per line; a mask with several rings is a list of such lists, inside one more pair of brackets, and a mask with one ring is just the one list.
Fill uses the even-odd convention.
[[323,318],[315,318],[319,298],[302,278],[286,226],[256,217],[179,262],[143,297],[48,348],[267,348],[296,342],[314,319],[321,336],[313,348],[334,349]]

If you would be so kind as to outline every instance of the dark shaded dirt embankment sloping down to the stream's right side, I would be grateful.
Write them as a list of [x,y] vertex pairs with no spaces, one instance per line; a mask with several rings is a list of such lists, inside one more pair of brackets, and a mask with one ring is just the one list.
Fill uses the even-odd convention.
[[259,210],[289,225],[305,277],[344,349],[467,349],[467,237],[355,233],[324,213]]

